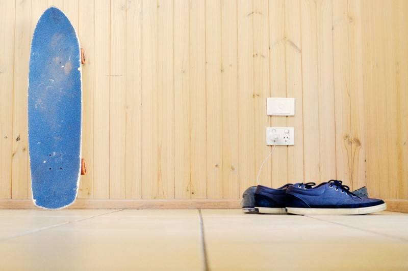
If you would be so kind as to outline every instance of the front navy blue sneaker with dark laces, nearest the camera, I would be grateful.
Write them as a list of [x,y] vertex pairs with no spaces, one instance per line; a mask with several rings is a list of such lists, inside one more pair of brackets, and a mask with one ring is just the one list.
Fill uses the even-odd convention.
[[286,209],[295,215],[363,215],[387,208],[384,201],[359,197],[341,180],[329,180],[311,189],[286,189]]

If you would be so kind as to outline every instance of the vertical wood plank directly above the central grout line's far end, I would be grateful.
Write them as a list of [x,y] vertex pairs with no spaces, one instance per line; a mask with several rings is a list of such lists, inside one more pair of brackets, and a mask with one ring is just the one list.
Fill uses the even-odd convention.
[[206,6],[204,1],[190,5],[191,197],[206,198]]

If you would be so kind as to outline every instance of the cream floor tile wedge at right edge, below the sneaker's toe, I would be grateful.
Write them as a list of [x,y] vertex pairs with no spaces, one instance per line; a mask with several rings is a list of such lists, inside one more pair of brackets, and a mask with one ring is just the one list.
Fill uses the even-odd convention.
[[408,215],[380,212],[362,216],[310,216],[315,219],[338,223],[348,227],[394,236],[408,242]]

